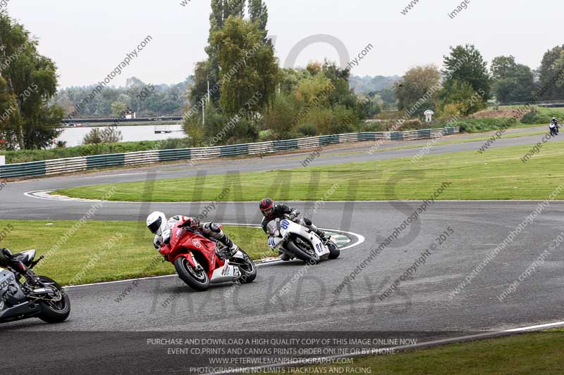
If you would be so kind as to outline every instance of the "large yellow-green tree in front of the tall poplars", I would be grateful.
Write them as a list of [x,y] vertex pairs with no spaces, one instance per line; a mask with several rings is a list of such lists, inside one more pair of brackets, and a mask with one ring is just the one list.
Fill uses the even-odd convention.
[[278,80],[278,60],[273,47],[264,44],[256,23],[228,18],[223,29],[214,32],[212,47],[219,51],[219,103],[224,113],[234,115],[242,110],[250,118],[271,103]]

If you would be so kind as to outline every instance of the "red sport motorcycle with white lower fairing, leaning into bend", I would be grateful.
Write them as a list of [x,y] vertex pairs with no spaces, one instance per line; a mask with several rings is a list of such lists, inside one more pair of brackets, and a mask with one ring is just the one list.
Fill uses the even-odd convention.
[[221,244],[181,223],[169,235],[170,242],[161,246],[159,253],[174,265],[178,277],[196,291],[207,291],[210,284],[229,281],[247,284],[257,277],[255,263],[241,249],[227,259]]

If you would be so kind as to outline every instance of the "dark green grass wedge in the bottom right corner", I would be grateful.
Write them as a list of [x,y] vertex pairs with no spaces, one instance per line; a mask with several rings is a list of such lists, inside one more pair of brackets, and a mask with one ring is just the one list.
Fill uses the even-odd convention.
[[[353,364],[307,367],[299,374],[330,374],[331,369],[333,374],[353,374],[351,368],[364,368],[371,369],[372,374],[556,375],[564,372],[563,347],[564,330],[557,329],[445,345],[396,355],[363,357],[353,360]],[[338,369],[342,369],[343,372]],[[366,374],[366,372],[357,372],[357,374]]]

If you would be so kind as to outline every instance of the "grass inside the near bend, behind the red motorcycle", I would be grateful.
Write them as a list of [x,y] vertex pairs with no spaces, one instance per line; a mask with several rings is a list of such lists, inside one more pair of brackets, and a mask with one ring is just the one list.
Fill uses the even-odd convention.
[[[12,231],[0,242],[0,247],[19,253],[30,248],[39,255],[49,250],[77,222],[56,221],[13,221],[0,220],[0,228],[8,225]],[[226,233],[253,259],[272,256],[266,243],[266,236],[260,228],[225,227]],[[30,236],[30,232],[41,234]],[[114,239],[114,246],[106,243]],[[88,221],[63,243],[53,255],[42,260],[37,274],[44,274],[61,285],[90,284],[99,281],[113,281],[136,277],[174,274],[169,262],[155,262],[162,259],[152,245],[153,237],[142,222],[99,222]],[[92,267],[89,267],[92,265]],[[156,263],[156,265],[155,265]],[[84,271],[84,272],[82,272]],[[83,276],[82,276],[83,273]],[[77,276],[78,275],[78,276]]]

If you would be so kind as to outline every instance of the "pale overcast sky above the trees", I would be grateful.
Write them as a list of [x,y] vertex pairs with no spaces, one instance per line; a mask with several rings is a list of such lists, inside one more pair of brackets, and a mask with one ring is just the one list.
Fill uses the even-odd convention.
[[[153,40],[113,84],[135,76],[147,83],[172,84],[192,74],[205,58],[209,0],[9,0],[8,13],[39,38],[39,51],[59,68],[61,87],[99,82],[147,35]],[[410,0],[266,0],[269,34],[276,36],[281,64],[305,37],[329,34],[351,57],[367,44],[374,49],[354,75],[403,75],[415,66],[441,66],[448,47],[471,43],[484,58],[512,54],[537,68],[543,53],[564,43],[561,0],[470,0],[454,19],[457,0],[419,0],[407,15]],[[469,0],[466,0],[469,1]],[[297,65],[338,53],[329,44],[302,51]]]

